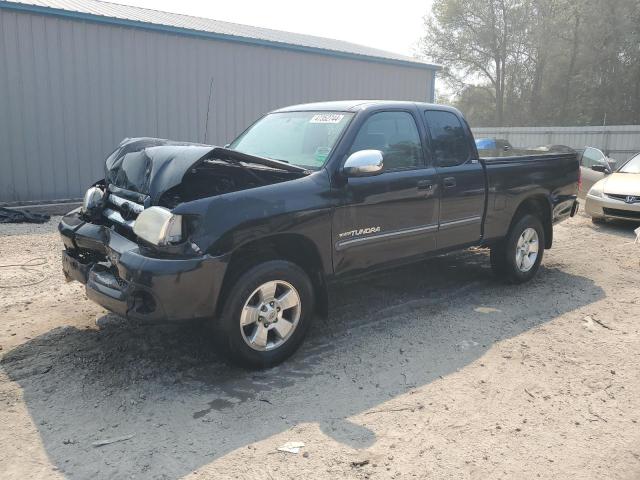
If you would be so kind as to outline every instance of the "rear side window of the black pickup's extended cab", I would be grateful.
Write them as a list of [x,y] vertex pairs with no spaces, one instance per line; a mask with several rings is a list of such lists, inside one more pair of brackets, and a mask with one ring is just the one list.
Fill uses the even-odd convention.
[[436,165],[453,167],[469,160],[471,151],[467,134],[456,115],[427,110],[424,116],[431,135],[431,152]]

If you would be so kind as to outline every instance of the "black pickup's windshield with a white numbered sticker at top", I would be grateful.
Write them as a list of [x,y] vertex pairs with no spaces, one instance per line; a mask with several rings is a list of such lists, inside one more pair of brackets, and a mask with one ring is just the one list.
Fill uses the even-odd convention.
[[321,168],[353,113],[280,112],[262,117],[229,148],[309,169]]

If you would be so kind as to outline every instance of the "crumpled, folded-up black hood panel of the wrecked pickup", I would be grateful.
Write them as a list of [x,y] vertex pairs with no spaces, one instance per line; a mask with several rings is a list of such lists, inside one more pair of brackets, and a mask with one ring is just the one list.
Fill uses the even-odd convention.
[[156,204],[213,148],[159,138],[127,138],[107,158],[105,179],[107,184],[149,195]]

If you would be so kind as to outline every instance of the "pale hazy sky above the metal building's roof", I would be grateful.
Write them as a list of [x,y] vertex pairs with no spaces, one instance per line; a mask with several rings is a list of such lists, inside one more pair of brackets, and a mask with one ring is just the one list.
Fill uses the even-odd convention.
[[306,33],[413,56],[432,0],[112,0],[114,3]]

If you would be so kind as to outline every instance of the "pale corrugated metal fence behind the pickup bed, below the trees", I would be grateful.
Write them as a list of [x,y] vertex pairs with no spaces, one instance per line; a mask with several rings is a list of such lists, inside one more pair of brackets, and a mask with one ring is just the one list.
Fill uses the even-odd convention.
[[473,128],[476,138],[506,138],[515,147],[567,145],[596,147],[611,158],[626,160],[640,152],[640,125],[610,127],[491,127]]

